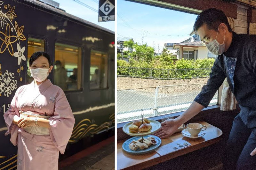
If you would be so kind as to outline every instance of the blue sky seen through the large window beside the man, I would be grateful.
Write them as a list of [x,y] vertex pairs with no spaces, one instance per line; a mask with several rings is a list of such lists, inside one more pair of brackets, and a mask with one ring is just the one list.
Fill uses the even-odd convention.
[[117,0],[117,37],[131,37],[155,50],[162,51],[164,42],[174,43],[188,39],[197,15],[170,9]]

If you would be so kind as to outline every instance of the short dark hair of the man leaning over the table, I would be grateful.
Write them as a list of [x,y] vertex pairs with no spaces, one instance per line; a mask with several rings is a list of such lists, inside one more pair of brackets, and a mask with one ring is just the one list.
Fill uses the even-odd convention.
[[228,23],[228,18],[223,11],[217,10],[216,8],[209,8],[201,12],[194,24],[194,31],[197,32],[203,24],[206,24],[208,29],[218,31],[218,27],[221,23],[224,23],[228,27],[228,31],[232,32],[232,29]]

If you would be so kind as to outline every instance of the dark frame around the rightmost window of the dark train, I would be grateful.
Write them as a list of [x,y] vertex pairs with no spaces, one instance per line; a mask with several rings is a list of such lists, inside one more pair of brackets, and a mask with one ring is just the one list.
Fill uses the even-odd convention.
[[89,68],[88,68],[88,72],[89,72],[89,91],[99,91],[99,90],[108,90],[109,89],[109,56],[108,56],[108,59],[107,59],[107,63],[108,63],[108,69],[107,69],[107,72],[108,72],[108,75],[107,75],[107,87],[106,88],[97,88],[97,89],[91,89],[90,88],[90,69],[91,69],[91,54],[92,54],[92,50],[94,51],[101,51],[101,52],[104,52],[104,53],[107,53],[108,54],[108,50],[105,49],[105,48],[90,48],[90,55],[89,55],[89,58],[90,58],[90,61],[89,61]]

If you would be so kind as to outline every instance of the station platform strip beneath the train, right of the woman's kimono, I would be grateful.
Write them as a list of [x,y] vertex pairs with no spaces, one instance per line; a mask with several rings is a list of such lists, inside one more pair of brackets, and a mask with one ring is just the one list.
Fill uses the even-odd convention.
[[114,170],[115,138],[110,137],[59,163],[60,170]]

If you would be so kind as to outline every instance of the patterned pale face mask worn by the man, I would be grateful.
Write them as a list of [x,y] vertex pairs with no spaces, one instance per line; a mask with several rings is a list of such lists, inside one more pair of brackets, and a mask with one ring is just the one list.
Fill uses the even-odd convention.
[[[220,28],[220,26],[219,26]],[[219,33],[219,28],[218,28],[218,32],[217,32],[217,35]],[[217,38],[217,35],[216,35],[216,38]],[[223,43],[220,44],[217,40],[213,40],[211,41],[209,44],[206,45],[206,47],[208,48],[209,51],[211,51],[212,54],[214,55],[221,55],[224,51],[225,51],[225,34],[224,34],[224,40],[223,40]]]

